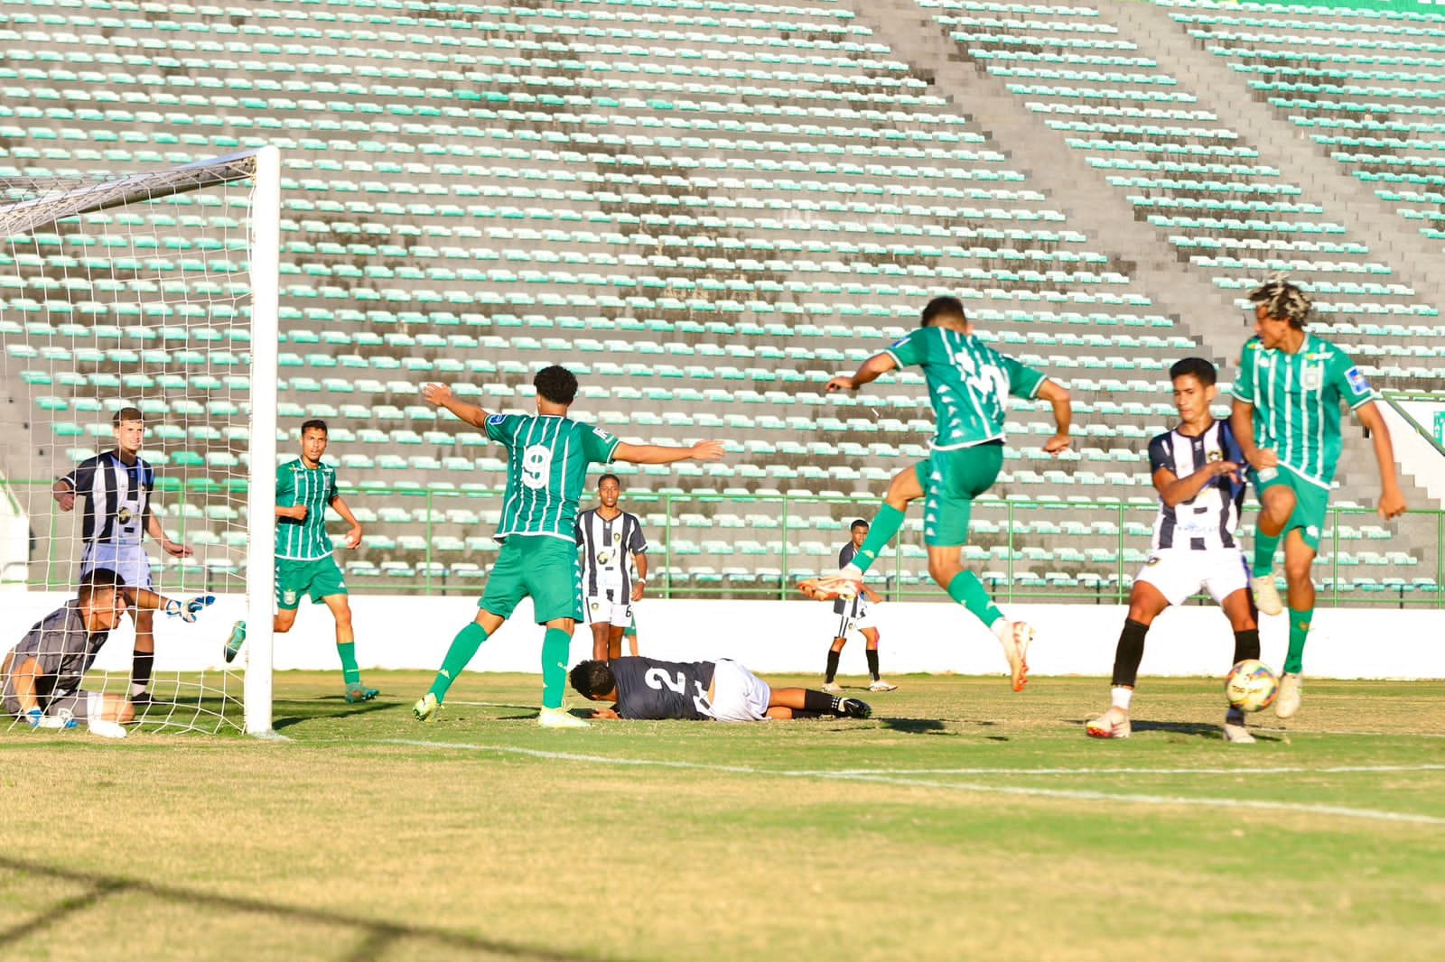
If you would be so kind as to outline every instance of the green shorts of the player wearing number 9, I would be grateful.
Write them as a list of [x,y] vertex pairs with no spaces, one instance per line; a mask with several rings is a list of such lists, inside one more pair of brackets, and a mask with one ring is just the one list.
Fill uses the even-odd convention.
[[513,534],[503,542],[477,607],[510,618],[523,598],[532,598],[538,624],[582,620],[582,568],[571,539]]

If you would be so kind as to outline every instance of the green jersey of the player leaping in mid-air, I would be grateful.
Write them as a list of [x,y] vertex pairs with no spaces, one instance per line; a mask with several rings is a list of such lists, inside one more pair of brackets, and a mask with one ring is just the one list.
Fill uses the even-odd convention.
[[1033,397],[1045,377],[971,334],[919,328],[884,351],[899,367],[919,364],[938,420],[935,451],[1003,438],[1009,396]]

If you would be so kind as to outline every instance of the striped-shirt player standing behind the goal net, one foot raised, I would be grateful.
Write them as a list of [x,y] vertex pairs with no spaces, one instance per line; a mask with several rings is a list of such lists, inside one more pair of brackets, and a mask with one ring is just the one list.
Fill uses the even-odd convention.
[[81,498],[81,578],[92,571],[111,571],[126,585],[126,602],[136,623],[136,649],[130,667],[130,701],[150,703],[150,673],[156,664],[155,612],[165,611],[182,621],[195,621],[215,595],[201,595],[181,602],[156,594],[150,578],[150,559],[140,539],[150,534],[160,550],[173,558],[191,558],[188,546],[172,542],[150,511],[156,471],[140,456],[146,425],[139,407],[121,407],[111,416],[116,449],[87,458],[51,488],[62,511]]

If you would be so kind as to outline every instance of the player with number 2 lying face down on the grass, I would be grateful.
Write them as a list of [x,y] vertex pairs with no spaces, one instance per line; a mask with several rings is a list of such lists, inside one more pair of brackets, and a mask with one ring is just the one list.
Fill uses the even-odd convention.
[[592,718],[764,721],[873,715],[873,709],[855,698],[837,698],[808,688],[773,688],[731,659],[594,659],[574,667],[571,677],[582,698],[614,702],[611,708],[595,709]]

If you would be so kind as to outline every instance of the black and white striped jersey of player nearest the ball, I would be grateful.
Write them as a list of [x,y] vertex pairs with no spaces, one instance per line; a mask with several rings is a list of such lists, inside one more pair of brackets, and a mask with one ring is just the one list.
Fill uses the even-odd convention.
[[[1230,422],[1215,419],[1202,435],[1191,438],[1173,429],[1149,442],[1149,474],[1168,468],[1176,478],[1185,478],[1215,461],[1244,464]],[[1220,475],[1209,481],[1189,501],[1169,507],[1160,501],[1155,519],[1153,547],[1183,547],[1209,550],[1238,547],[1234,533],[1240,527],[1240,507],[1244,503],[1244,481]]]

